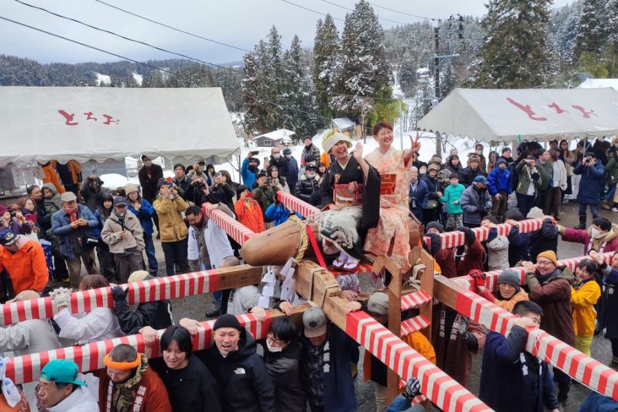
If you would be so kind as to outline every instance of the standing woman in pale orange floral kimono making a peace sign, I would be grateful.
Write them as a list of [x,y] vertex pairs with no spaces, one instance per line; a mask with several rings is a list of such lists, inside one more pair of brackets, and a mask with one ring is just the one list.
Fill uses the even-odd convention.
[[393,126],[388,122],[376,124],[373,135],[379,146],[365,160],[380,174],[380,221],[378,227],[369,229],[363,250],[376,256],[389,255],[405,273],[411,267],[408,262],[410,170],[420,143],[418,137],[415,140],[410,137],[411,148],[400,151],[391,147]]

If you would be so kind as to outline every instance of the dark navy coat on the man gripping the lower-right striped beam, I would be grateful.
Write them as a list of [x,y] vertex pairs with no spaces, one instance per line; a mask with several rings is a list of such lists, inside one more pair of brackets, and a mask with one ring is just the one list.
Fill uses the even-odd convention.
[[[526,330],[519,326],[514,326],[507,337],[497,332],[487,335],[479,399],[494,411],[544,412],[546,407],[558,409],[547,363],[524,352],[526,339]],[[538,362],[538,369],[529,365],[531,362]],[[532,368],[538,370],[538,376],[529,373]],[[506,390],[505,382],[508,382]],[[536,400],[530,396],[535,391],[538,391]]]

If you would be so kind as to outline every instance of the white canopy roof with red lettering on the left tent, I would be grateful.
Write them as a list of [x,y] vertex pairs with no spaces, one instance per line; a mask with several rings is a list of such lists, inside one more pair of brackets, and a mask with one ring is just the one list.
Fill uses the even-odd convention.
[[0,124],[0,166],[240,152],[218,87],[2,87]]

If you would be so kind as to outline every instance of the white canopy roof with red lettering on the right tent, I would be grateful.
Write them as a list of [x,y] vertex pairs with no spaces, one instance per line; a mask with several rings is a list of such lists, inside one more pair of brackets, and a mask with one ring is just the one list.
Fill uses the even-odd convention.
[[514,141],[618,133],[614,89],[455,89],[418,129],[477,141]]

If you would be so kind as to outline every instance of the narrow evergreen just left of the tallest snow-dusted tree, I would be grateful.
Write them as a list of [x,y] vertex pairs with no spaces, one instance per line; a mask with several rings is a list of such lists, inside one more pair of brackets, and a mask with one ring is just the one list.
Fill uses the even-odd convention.
[[330,14],[324,21],[318,20],[313,46],[314,68],[313,81],[318,113],[332,117],[328,91],[332,84],[333,68],[339,48],[339,34]]

